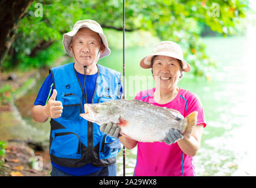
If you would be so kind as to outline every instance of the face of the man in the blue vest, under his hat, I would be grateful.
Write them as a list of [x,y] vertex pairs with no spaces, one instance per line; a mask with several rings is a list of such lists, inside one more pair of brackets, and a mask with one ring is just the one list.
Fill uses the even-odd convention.
[[101,43],[98,33],[88,28],[81,28],[73,36],[69,49],[74,53],[75,66],[96,66],[105,46]]

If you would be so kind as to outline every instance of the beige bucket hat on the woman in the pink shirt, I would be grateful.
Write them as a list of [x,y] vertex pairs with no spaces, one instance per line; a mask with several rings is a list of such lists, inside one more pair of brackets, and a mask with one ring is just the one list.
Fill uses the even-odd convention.
[[184,72],[189,72],[191,70],[191,66],[183,59],[183,53],[181,47],[178,43],[172,41],[163,41],[156,45],[153,53],[151,55],[146,56],[140,61],[140,66],[143,69],[151,68],[151,59],[155,55],[164,55],[169,56],[175,59],[179,59],[182,62],[182,69]]

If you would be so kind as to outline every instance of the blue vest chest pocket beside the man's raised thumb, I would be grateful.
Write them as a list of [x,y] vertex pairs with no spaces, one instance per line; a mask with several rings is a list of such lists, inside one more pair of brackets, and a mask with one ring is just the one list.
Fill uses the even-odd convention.
[[61,117],[68,120],[80,120],[82,113],[82,104],[80,98],[73,93],[63,93],[63,113]]

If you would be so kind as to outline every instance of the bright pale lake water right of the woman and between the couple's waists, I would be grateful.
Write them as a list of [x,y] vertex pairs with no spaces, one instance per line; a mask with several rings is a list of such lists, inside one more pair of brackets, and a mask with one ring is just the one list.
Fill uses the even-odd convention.
[[[252,28],[251,28],[252,29]],[[208,55],[218,68],[209,72],[211,79],[185,75],[179,86],[196,93],[202,101],[207,126],[201,148],[193,157],[198,176],[255,176],[256,149],[253,140],[253,98],[255,93],[255,38],[204,38]],[[122,152],[119,175],[123,173]],[[127,150],[126,175],[132,175],[137,149]]]

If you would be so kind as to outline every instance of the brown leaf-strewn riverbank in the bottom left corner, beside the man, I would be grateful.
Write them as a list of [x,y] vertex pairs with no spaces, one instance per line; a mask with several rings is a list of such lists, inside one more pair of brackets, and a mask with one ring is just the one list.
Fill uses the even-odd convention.
[[48,150],[35,149],[21,140],[8,141],[6,145],[0,176],[50,176]]

